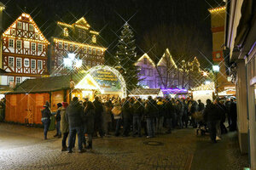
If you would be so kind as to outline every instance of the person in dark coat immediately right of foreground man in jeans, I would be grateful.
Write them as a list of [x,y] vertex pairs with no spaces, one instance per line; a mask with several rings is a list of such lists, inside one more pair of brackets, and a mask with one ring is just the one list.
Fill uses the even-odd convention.
[[94,116],[95,116],[95,106],[88,101],[85,108],[84,108],[84,114],[86,117],[85,122],[85,133],[88,135],[88,144],[86,146],[86,149],[91,150],[92,149],[92,134],[94,133]]

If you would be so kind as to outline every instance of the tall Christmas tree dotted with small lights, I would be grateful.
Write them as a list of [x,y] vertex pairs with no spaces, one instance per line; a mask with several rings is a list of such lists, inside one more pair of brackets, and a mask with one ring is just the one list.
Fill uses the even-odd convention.
[[137,62],[135,49],[134,35],[126,22],[121,31],[121,36],[119,37],[117,65],[119,65],[119,71],[125,78],[128,94],[133,88],[137,88],[137,83],[139,82],[137,77],[138,68],[135,65]]

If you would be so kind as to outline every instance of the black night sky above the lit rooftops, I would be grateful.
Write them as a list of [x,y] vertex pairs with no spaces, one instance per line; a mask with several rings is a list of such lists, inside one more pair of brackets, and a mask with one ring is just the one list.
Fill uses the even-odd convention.
[[[177,40],[176,31],[172,32],[172,28],[178,27],[178,30],[182,30],[181,38],[196,35],[196,38],[191,37],[194,40],[189,43],[193,44],[193,50],[185,59],[192,59],[196,55],[202,65],[207,66],[202,55],[212,59],[211,17],[207,8],[218,7],[221,2],[222,0],[3,0],[2,3],[6,5],[3,26],[7,28],[26,7],[26,13],[32,15],[44,36],[49,38],[54,32],[55,21],[72,24],[84,16],[93,29],[101,31],[101,43],[108,47],[107,55],[110,58],[115,54],[118,35],[125,21],[128,21],[135,33],[138,56],[154,46],[154,43],[147,40],[149,37],[151,41],[158,43],[155,56],[163,54],[165,48],[171,48],[171,53],[178,58],[180,52],[174,47],[177,42],[183,41]],[[171,32],[171,37],[165,36],[168,32]],[[162,41],[167,37],[166,41]]]

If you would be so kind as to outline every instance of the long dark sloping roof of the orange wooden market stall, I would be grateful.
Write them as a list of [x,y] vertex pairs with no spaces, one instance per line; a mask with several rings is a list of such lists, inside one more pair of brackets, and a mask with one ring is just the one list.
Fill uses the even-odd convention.
[[[75,74],[73,75],[72,80],[76,84],[80,82],[84,76],[85,74]],[[26,79],[26,81],[21,82],[13,92],[10,92],[10,94],[43,93],[67,89],[70,88],[70,81],[71,75]]]

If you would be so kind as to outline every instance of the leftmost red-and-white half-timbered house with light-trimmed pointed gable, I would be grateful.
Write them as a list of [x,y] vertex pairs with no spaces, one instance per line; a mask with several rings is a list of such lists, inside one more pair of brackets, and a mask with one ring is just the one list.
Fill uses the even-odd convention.
[[21,14],[3,32],[2,41],[2,68],[8,73],[1,77],[1,85],[17,84],[28,78],[48,74],[49,42],[30,14]]

